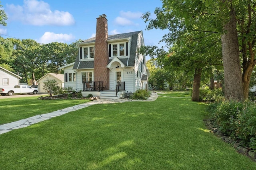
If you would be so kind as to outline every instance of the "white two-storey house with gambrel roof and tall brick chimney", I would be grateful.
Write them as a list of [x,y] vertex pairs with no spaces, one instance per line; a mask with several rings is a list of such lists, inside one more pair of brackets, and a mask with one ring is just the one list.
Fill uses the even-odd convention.
[[65,87],[101,98],[120,98],[147,89],[149,71],[145,56],[138,53],[144,45],[142,31],[108,35],[107,21],[105,14],[96,18],[96,37],[79,44],[74,63],[60,67]]

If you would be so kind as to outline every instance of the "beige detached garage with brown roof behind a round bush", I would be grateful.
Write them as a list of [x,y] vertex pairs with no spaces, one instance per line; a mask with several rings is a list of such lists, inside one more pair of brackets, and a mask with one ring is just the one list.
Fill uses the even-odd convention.
[[46,92],[44,90],[44,81],[48,79],[56,80],[58,86],[64,88],[64,74],[56,74],[56,73],[47,73],[37,80],[38,83],[38,92]]

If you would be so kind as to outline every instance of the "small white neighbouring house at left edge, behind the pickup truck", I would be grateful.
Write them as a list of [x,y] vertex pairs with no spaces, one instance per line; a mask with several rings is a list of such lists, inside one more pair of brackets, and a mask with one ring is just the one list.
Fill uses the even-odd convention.
[[21,76],[6,70],[0,66],[0,88],[13,88],[15,85],[20,85]]

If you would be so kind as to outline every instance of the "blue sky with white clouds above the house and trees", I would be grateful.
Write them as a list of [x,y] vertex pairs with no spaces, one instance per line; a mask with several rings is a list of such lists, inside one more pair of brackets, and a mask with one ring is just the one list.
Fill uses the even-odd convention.
[[[96,18],[106,14],[108,34],[143,31],[145,45],[158,45],[167,31],[145,30],[140,18],[162,7],[161,0],[0,0],[8,16],[0,36],[34,39],[39,43],[71,43],[95,36]],[[154,16],[153,16],[154,17]]]

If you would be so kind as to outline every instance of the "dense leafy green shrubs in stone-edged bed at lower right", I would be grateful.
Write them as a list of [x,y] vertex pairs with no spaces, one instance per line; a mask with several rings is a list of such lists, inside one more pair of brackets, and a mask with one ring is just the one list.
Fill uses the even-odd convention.
[[223,101],[210,105],[210,119],[222,133],[256,150],[256,106],[254,102]]

